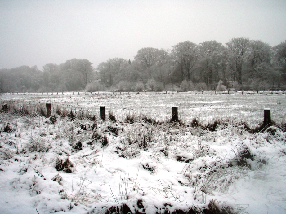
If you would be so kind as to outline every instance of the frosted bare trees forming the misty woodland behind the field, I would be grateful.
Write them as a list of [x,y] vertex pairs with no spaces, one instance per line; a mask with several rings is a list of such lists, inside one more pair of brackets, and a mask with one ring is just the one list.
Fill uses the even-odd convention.
[[285,90],[286,40],[271,47],[261,40],[232,38],[171,50],[144,47],[133,60],[112,58],[96,68],[87,59],[70,59],[0,70],[0,93],[143,90]]

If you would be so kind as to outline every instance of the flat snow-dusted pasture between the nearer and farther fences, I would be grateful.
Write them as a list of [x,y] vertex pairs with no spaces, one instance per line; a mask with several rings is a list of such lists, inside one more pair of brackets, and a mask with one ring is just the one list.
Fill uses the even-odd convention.
[[[165,91],[167,92],[167,91]],[[150,116],[157,121],[168,121],[172,117],[171,107],[178,107],[178,119],[191,122],[198,119],[207,124],[215,120],[245,122],[255,126],[263,122],[264,108],[271,109],[271,119],[277,124],[286,122],[286,99],[283,92],[241,92],[226,91],[215,95],[215,92],[61,92],[31,93],[31,96],[15,94],[3,99],[11,99],[15,105],[33,103],[51,103],[52,112],[56,108],[67,111],[90,112],[99,117],[100,106],[105,106],[107,117],[109,112],[117,120],[124,120],[127,115]],[[248,93],[248,94],[246,94]],[[35,94],[35,95],[34,95]],[[63,96],[64,95],[64,96]],[[72,96],[74,95],[74,96]],[[11,103],[11,104],[12,104]],[[36,107],[35,107],[36,108]]]

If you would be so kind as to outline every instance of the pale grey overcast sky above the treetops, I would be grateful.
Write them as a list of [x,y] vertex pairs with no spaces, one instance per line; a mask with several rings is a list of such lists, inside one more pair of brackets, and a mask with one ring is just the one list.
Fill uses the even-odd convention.
[[133,59],[143,47],[286,39],[286,1],[0,0],[0,68]]

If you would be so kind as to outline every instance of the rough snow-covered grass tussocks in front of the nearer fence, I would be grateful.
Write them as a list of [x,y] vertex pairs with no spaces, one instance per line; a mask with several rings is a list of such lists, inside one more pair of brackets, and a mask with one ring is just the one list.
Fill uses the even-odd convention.
[[63,111],[50,118],[1,111],[2,213],[286,210],[282,128],[250,133],[229,120],[102,121]]

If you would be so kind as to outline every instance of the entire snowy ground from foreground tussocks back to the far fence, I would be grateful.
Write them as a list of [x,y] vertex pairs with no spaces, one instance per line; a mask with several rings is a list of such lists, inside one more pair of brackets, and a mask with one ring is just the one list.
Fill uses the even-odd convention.
[[0,97],[1,213],[286,212],[285,94],[71,94]]

